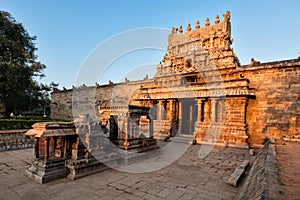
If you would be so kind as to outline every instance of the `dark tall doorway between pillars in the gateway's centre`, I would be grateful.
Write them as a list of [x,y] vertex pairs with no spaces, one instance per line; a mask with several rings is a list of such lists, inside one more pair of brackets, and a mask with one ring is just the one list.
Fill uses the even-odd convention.
[[179,100],[179,122],[181,134],[193,135],[197,121],[198,105],[194,99]]

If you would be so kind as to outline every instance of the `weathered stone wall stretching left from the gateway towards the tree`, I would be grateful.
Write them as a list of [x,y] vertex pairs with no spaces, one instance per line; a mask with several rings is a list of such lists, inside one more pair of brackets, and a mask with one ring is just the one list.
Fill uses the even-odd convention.
[[[124,106],[128,104],[139,105],[130,99],[143,84],[151,83],[153,80],[127,81],[124,83],[110,83],[108,85],[97,85],[95,87],[81,86],[70,90],[61,90],[51,93],[51,117],[54,118],[73,118],[76,112],[86,113],[90,106],[95,105],[99,110],[100,106]],[[74,94],[73,94],[73,91]],[[76,95],[79,91],[79,95]],[[84,102],[82,102],[84,101]],[[72,110],[72,105],[80,107],[80,111]],[[94,108],[92,108],[94,109]],[[92,113],[88,113],[94,118]],[[101,120],[102,113],[96,113],[97,120]]]

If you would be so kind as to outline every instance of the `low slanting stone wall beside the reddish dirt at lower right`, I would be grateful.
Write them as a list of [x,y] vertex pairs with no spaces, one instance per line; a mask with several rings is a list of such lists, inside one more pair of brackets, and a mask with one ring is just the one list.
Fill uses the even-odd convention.
[[284,189],[279,181],[275,155],[273,145],[267,142],[257,156],[239,193],[236,195],[236,200],[285,199]]

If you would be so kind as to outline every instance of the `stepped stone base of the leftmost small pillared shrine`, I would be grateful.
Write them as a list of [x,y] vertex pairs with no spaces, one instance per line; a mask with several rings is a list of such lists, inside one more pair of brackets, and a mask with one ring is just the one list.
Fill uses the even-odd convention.
[[65,159],[55,158],[54,160],[36,159],[29,169],[25,171],[27,177],[43,184],[50,181],[67,177],[69,170],[65,167]]

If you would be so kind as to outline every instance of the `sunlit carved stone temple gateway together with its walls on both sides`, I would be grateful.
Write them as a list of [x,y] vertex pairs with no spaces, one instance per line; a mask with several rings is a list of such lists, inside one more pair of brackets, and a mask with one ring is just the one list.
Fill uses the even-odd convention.
[[54,91],[51,115],[73,118],[74,106],[90,106],[116,140],[190,135],[198,144],[255,147],[299,135],[300,57],[241,65],[232,41],[228,11],[203,27],[172,28],[153,78]]

